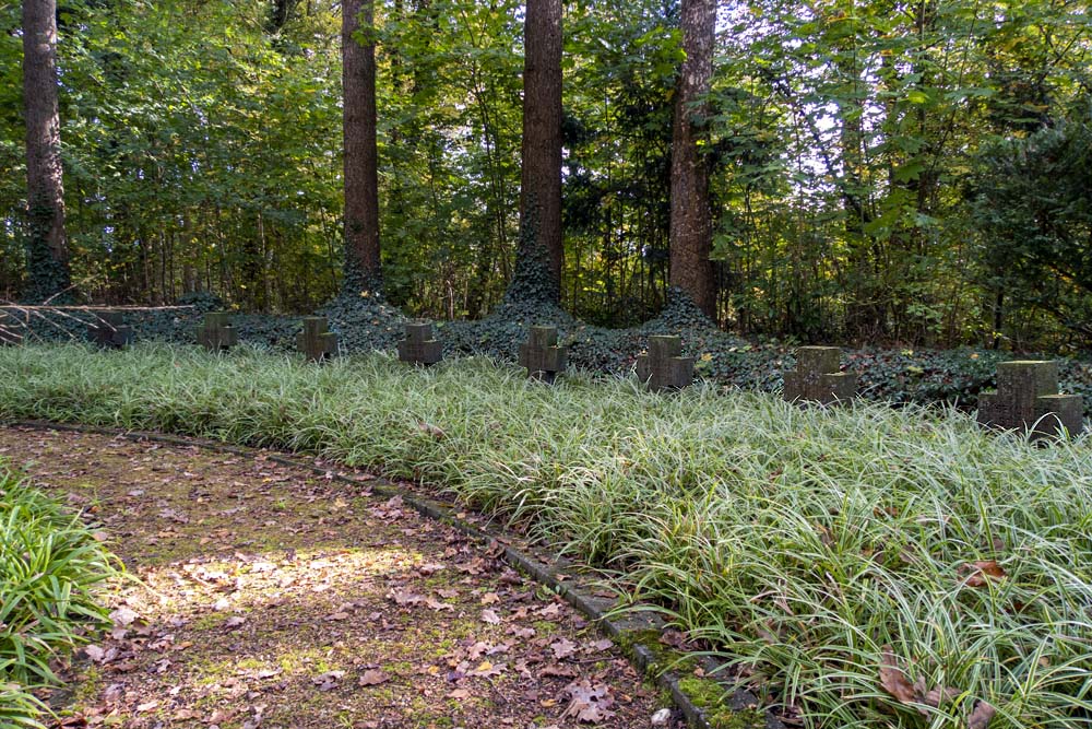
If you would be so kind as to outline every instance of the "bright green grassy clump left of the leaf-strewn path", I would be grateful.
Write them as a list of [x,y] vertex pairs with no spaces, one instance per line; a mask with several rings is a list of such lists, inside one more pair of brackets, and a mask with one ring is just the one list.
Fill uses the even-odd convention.
[[105,624],[97,592],[118,564],[79,515],[0,461],[0,727],[40,726],[31,692]]

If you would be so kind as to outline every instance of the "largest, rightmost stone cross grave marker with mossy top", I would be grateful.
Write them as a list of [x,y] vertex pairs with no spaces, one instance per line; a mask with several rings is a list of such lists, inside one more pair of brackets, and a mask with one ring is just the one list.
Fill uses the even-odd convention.
[[1058,395],[1058,363],[1049,360],[1001,362],[997,392],[978,396],[978,422],[1031,431],[1035,436],[1081,432],[1084,403],[1079,395]]

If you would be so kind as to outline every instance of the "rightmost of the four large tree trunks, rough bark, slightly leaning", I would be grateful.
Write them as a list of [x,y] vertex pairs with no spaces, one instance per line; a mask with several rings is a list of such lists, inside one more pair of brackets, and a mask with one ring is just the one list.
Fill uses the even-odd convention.
[[709,201],[709,169],[698,142],[696,118],[713,77],[713,36],[716,0],[682,0],[682,50],[686,59],[675,93],[672,131],[670,284],[682,290],[702,311],[715,315],[716,292],[709,255],[713,220]]

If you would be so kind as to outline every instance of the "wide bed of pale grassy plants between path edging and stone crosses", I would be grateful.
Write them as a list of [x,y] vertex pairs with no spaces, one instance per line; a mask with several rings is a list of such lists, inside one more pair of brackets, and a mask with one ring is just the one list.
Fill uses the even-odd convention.
[[[0,418],[372,465],[606,569],[809,727],[1092,724],[1092,459],[954,411],[466,358],[0,352]],[[988,706],[987,706],[988,705]],[[989,712],[987,709],[993,709]]]

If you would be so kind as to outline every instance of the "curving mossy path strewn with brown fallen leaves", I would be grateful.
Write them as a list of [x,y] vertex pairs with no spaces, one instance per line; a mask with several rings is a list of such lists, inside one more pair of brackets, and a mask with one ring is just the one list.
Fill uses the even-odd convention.
[[668,705],[569,605],[367,482],[3,427],[0,458],[143,583],[52,697],[63,726],[622,728]]

